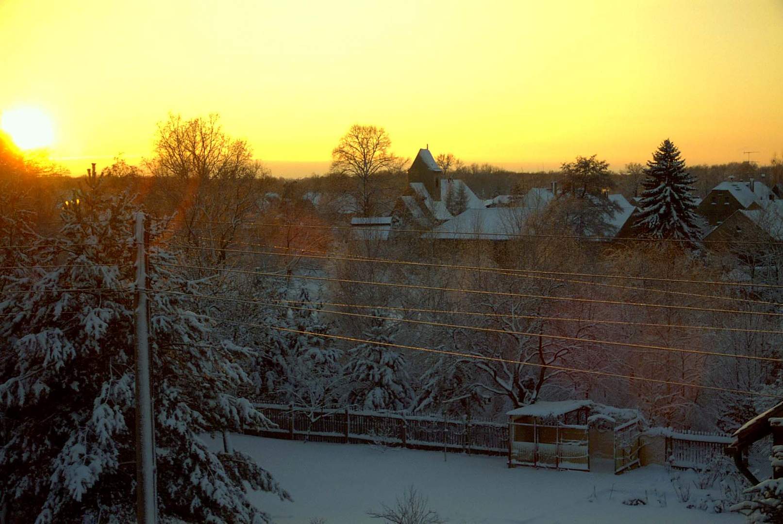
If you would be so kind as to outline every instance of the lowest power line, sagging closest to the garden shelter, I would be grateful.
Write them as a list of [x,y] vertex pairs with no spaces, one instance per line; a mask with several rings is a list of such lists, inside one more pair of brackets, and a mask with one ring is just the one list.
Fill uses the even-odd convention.
[[608,376],[615,379],[629,379],[629,380],[639,380],[642,382],[655,382],[658,384],[668,384],[669,386],[680,386],[680,387],[691,387],[696,389],[710,389],[713,391],[723,391],[726,393],[735,393],[740,395],[752,395],[757,397],[770,397],[770,398],[776,398],[776,399],[783,399],[783,397],[780,397],[778,395],[772,395],[770,393],[760,393],[755,391],[744,391],[742,389],[729,389],[729,388],[721,388],[717,386],[703,386],[701,384],[691,384],[688,382],[676,382],[671,380],[663,380],[663,379],[648,379],[646,377],[635,377],[631,375],[622,375],[620,373],[612,373],[611,371],[597,371],[593,369],[576,369],[576,368],[566,368],[565,366],[558,366],[553,364],[536,364],[535,362],[524,362],[524,361],[514,361],[512,359],[507,358],[500,358],[500,357],[487,357],[485,355],[477,355],[477,354],[463,354],[459,353],[457,351],[450,351],[450,350],[435,350],[428,347],[421,347],[421,346],[407,346],[405,344],[397,344],[397,343],[390,343],[390,342],[379,342],[374,340],[367,340],[367,339],[358,339],[351,336],[341,336],[341,335],[332,335],[329,333],[316,333],[316,332],[309,332],[304,331],[302,329],[292,329],[292,328],[282,328],[280,326],[276,325],[267,325],[267,324],[257,324],[254,322],[244,322],[244,321],[236,321],[236,320],[227,320],[227,319],[217,319],[217,318],[211,318],[207,317],[211,321],[215,322],[225,322],[227,324],[235,324],[235,325],[247,325],[249,327],[253,328],[264,328],[264,329],[274,329],[276,331],[283,331],[283,332],[290,332],[290,333],[298,333],[301,335],[312,335],[317,337],[323,337],[326,339],[337,339],[337,340],[345,340],[348,342],[353,343],[360,343],[360,344],[370,344],[373,346],[386,346],[386,347],[399,347],[403,350],[414,350],[414,351],[420,351],[424,353],[431,353],[431,354],[442,354],[442,355],[449,355],[452,357],[460,357],[460,358],[472,358],[475,360],[482,360],[482,361],[494,361],[494,362],[504,362],[506,364],[519,364],[523,366],[532,366],[534,368],[549,368],[556,371],[571,371],[574,373],[585,373],[588,375],[599,375],[599,376]]

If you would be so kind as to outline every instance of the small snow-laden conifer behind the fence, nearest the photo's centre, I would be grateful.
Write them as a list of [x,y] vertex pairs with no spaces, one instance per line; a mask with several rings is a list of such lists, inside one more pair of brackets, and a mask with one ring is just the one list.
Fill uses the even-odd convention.
[[[364,338],[378,343],[394,343],[392,321],[373,320]],[[352,389],[348,400],[366,410],[403,410],[410,407],[413,390],[405,357],[394,347],[363,343],[349,350],[348,380]]]

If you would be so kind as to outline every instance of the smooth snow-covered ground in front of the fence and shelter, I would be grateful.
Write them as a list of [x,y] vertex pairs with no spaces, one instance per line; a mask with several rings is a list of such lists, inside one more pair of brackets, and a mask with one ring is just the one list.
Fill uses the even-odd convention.
[[[280,524],[308,524],[316,517],[328,524],[379,524],[381,520],[370,519],[366,511],[380,509],[381,502],[393,506],[410,484],[429,498],[431,509],[456,524],[744,521],[742,515],[686,508],[659,466],[615,476],[509,469],[502,457],[449,454],[444,462],[443,454],[435,451],[360,444],[240,435],[233,436],[233,442],[272,472],[294,498],[282,502],[267,493],[255,496]],[[648,504],[622,504],[631,497],[646,497]]]

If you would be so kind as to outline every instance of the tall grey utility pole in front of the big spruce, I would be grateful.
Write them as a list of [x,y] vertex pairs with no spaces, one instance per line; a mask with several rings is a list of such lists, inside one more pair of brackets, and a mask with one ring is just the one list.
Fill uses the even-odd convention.
[[150,387],[150,340],[147,324],[146,235],[144,214],[136,214],[136,519],[156,524],[157,493]]

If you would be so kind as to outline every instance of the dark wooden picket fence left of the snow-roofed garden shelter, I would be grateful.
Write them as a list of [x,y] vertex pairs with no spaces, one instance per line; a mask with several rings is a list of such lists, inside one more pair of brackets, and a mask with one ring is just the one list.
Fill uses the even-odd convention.
[[383,443],[481,454],[508,453],[508,425],[349,409],[256,404],[277,427],[263,436],[320,442]]

